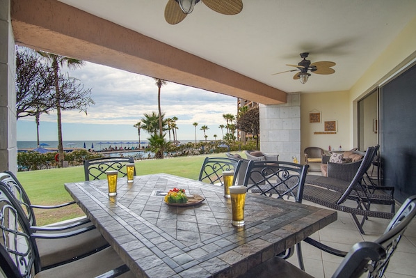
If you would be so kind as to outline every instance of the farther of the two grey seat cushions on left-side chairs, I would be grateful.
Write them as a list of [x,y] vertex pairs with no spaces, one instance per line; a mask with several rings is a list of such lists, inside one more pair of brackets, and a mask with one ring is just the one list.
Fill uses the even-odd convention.
[[108,245],[108,242],[97,229],[93,229],[69,238],[37,238],[36,244],[40,254],[40,263],[44,268],[93,252],[95,249]]

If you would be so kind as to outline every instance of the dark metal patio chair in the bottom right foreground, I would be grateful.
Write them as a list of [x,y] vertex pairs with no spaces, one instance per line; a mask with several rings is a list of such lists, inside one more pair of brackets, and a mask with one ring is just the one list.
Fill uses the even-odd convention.
[[[317,242],[318,244],[315,245],[316,241],[314,240],[308,243],[322,249],[324,252],[344,257],[337,270],[335,270],[333,278],[358,278],[363,277],[365,272],[369,272],[368,277],[384,277],[383,274],[395,249],[397,249],[401,236],[415,215],[416,196],[411,196],[403,203],[403,206],[401,206],[399,212],[394,216],[394,219],[392,219],[380,238],[374,242],[358,242],[353,245],[348,253],[333,249],[320,242]],[[269,261],[260,263],[239,278],[268,278],[276,277],[277,274],[280,277],[312,277],[291,263],[275,256]]]

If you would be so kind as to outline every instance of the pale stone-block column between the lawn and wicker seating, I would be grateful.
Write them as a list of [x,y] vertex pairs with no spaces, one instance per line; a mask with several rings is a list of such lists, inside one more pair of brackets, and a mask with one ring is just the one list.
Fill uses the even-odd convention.
[[301,93],[288,93],[284,105],[259,105],[260,150],[293,162],[301,157]]

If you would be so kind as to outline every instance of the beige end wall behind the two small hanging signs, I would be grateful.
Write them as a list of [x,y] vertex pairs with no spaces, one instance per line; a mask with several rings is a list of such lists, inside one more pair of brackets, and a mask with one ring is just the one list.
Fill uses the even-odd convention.
[[[321,123],[309,123],[309,112],[321,111]],[[314,146],[343,150],[353,148],[349,139],[351,102],[349,92],[304,93],[301,95],[301,151]],[[314,134],[324,131],[324,121],[337,121],[336,134]]]

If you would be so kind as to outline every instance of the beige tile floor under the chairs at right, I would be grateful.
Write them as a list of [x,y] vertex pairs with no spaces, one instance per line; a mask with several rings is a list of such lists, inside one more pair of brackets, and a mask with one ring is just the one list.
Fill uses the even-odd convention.
[[[303,203],[318,206],[308,201],[304,201]],[[374,208],[378,206],[379,210],[390,211],[390,206],[373,206]],[[397,204],[396,211],[399,207],[400,204]],[[311,238],[344,251],[349,251],[356,242],[376,240],[390,222],[388,219],[371,217],[365,222],[364,231],[366,234],[362,235],[358,231],[357,226],[355,226],[355,222],[349,213],[339,211],[337,213],[338,219],[336,222],[314,233]],[[390,260],[387,272],[383,276],[385,278],[416,277],[416,218],[410,223],[404,235],[401,238],[401,242],[399,242],[394,256]],[[305,242],[302,244],[302,250],[306,272],[317,278],[331,277],[339,262],[342,261],[342,258],[322,252],[320,249],[308,245]],[[288,261],[294,265],[298,265],[296,252]],[[363,277],[367,277],[367,275]]]

